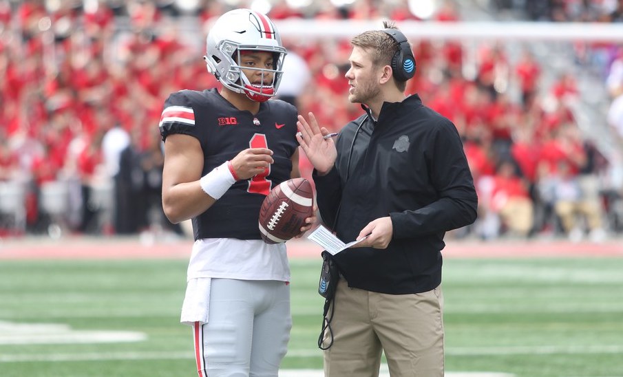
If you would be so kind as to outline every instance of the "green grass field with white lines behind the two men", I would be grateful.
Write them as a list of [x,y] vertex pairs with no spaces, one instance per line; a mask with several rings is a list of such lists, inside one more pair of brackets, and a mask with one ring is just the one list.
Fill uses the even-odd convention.
[[[186,260],[0,261],[0,376],[196,376]],[[287,369],[320,369],[319,260],[295,259]],[[446,259],[446,370],[623,376],[623,258]]]

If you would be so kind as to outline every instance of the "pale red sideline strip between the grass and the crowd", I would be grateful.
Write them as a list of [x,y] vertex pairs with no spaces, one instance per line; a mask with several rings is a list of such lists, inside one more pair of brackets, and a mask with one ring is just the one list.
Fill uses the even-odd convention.
[[[168,259],[188,258],[193,240],[180,237],[67,236],[0,238],[1,259]],[[291,258],[319,258],[321,247],[308,239],[286,243]],[[623,239],[600,243],[566,239],[475,239],[446,242],[443,256],[469,257],[623,257]]]

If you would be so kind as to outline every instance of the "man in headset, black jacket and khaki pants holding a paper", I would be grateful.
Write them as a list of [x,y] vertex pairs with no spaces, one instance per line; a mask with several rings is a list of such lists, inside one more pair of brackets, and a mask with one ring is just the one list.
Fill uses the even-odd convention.
[[443,237],[476,219],[461,138],[419,96],[405,96],[414,57],[393,23],[385,27],[351,41],[348,99],[365,114],[335,144],[313,114],[299,116],[323,221],[344,241],[368,235],[335,257],[343,278],[327,377],[378,376],[383,350],[392,376],[443,376]]

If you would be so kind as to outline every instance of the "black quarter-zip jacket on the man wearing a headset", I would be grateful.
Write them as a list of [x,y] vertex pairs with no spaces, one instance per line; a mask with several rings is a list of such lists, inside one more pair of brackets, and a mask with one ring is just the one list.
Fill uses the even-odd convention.
[[350,248],[335,260],[352,288],[432,290],[441,283],[445,232],[476,219],[478,198],[463,143],[452,122],[416,94],[383,103],[377,121],[364,109],[368,114],[341,130],[334,168],[313,173],[318,208],[345,242],[386,216],[393,236],[386,249]]

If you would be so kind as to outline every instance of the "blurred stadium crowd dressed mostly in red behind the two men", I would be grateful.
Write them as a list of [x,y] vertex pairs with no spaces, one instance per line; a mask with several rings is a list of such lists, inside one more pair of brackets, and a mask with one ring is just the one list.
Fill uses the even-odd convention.
[[[621,0],[610,8],[599,8],[606,1],[546,3],[554,7],[547,17],[556,21],[622,21]],[[578,16],[576,3],[587,6],[590,17]],[[426,21],[408,1],[313,4],[296,9],[277,1],[268,15],[277,21]],[[0,235],[48,233],[54,224],[72,233],[135,234],[156,227],[181,234],[162,214],[157,126],[169,93],[218,85],[201,59],[204,35],[211,20],[231,8],[221,1],[200,1],[184,13],[173,1],[0,0]],[[180,32],[180,16],[198,23],[191,38]],[[460,21],[461,14],[445,1],[433,19]],[[348,39],[282,37],[288,48],[282,99],[300,114],[313,111],[335,131],[361,114],[346,96]],[[623,77],[615,77],[623,47],[598,47],[607,53],[604,81],[616,98],[623,93]],[[467,77],[464,48],[450,40],[414,43],[423,68],[406,90],[450,118],[463,137],[480,213],[456,237],[600,241],[621,233],[620,219],[610,214],[622,205],[622,188],[600,186],[609,161],[582,136],[569,108],[582,96],[573,75],[559,72],[545,87],[543,67],[529,48],[511,61],[505,46],[481,43],[476,72]],[[520,95],[511,96],[510,87]],[[304,157],[301,164],[310,176]],[[15,200],[23,202],[21,217],[12,216]]]

